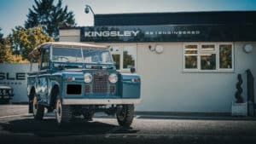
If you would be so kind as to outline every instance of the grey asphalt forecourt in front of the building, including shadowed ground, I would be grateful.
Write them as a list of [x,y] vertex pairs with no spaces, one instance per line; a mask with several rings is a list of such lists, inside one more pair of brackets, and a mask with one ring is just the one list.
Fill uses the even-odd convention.
[[136,115],[131,128],[96,114],[58,127],[54,113],[35,121],[26,105],[0,106],[0,138],[5,143],[255,143],[255,118]]

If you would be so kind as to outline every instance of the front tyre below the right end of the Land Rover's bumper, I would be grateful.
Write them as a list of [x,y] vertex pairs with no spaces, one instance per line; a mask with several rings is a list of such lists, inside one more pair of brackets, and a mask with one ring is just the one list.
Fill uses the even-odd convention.
[[121,105],[117,108],[116,118],[120,126],[130,127],[134,117],[134,105]]

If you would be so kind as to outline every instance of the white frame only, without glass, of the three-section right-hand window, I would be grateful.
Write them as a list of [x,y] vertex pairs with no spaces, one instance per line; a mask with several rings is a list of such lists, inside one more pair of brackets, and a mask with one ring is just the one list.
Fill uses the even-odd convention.
[[[201,49],[202,45],[214,44],[215,50],[212,51],[204,51]],[[185,68],[185,48],[187,45],[197,45],[197,68]],[[231,45],[232,52],[232,68],[220,68],[219,64],[219,46],[220,45]],[[234,43],[223,42],[223,43],[183,43],[183,72],[235,72],[235,50]],[[215,70],[201,70],[201,55],[202,54],[216,54],[216,69]]]

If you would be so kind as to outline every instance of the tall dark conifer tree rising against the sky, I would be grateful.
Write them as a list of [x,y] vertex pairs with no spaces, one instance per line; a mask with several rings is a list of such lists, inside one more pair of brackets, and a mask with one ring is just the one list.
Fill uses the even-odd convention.
[[48,32],[49,36],[58,40],[59,26],[75,25],[73,12],[67,11],[67,5],[62,8],[62,0],[58,0],[56,5],[55,0],[35,0],[34,2],[35,5],[26,15],[26,28],[42,25],[44,32]]

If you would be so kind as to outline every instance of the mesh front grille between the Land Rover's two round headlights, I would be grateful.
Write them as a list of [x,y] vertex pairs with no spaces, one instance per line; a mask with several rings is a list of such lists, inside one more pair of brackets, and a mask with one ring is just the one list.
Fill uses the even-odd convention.
[[108,72],[95,72],[93,75],[93,93],[108,93]]

